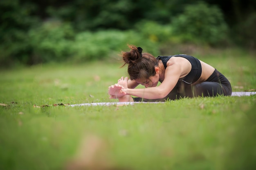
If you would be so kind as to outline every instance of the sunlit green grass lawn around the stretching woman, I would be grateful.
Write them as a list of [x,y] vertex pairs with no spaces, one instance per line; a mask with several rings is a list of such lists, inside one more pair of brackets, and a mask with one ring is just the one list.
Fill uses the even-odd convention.
[[[233,91],[256,88],[253,55],[231,50],[198,58],[227,76]],[[256,167],[256,96],[33,107],[117,101],[108,99],[108,86],[126,75],[119,66],[91,62],[2,70],[0,103],[8,106],[0,106],[0,169],[60,170],[67,164],[77,169],[72,159],[84,169],[108,163],[128,170]],[[78,151],[84,155],[76,157]]]

